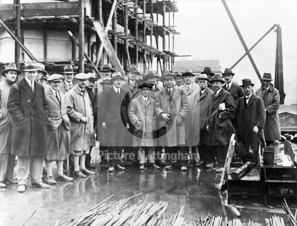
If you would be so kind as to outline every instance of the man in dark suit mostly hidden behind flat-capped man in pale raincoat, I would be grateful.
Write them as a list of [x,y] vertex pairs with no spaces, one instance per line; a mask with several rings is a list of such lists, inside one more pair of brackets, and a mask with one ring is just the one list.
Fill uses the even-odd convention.
[[[86,83],[86,91],[89,95],[89,98],[91,100],[91,104],[92,104],[92,110],[93,110],[93,113],[94,113],[94,107],[95,107],[95,101],[96,101],[96,93],[94,91],[94,83],[98,80],[96,79],[96,75],[93,74],[93,73],[88,73],[89,75],[89,79],[87,80],[87,83]],[[97,124],[97,116],[94,115],[94,129],[95,129],[95,126]],[[86,160],[85,160],[85,165],[87,168],[95,168],[95,165],[91,163],[91,151],[93,149],[93,146],[90,146],[90,151],[88,154],[86,154]]]

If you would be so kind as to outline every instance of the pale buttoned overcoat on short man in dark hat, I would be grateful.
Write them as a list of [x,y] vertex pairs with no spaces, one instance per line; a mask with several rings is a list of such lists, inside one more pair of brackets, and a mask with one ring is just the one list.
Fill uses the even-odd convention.
[[154,113],[155,101],[148,96],[147,101],[142,95],[133,99],[129,106],[129,119],[134,126],[133,147],[154,147],[154,133],[157,129],[157,117]]

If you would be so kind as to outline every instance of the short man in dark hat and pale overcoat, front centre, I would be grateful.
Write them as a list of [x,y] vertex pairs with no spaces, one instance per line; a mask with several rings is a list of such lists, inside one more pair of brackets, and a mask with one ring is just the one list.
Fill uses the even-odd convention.
[[144,170],[144,163],[147,161],[154,169],[160,167],[155,164],[154,153],[154,131],[157,128],[157,117],[154,113],[154,99],[149,97],[149,90],[152,88],[147,83],[138,86],[141,95],[133,99],[129,106],[129,119],[134,126],[133,147],[138,149],[140,170]]

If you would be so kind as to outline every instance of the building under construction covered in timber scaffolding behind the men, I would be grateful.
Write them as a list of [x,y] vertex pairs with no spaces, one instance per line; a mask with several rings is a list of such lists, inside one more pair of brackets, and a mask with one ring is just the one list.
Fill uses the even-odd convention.
[[1,70],[10,62],[22,69],[36,60],[50,74],[65,64],[99,74],[102,64],[111,63],[122,73],[138,64],[140,72],[161,75],[177,56],[176,12],[176,2],[164,0],[13,0],[0,5]]

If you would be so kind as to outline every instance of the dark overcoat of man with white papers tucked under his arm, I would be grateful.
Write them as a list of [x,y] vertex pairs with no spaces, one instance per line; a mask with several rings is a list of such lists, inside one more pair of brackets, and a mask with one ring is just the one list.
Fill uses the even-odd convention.
[[[225,110],[219,110],[219,104],[225,103]],[[211,102],[209,105],[209,145],[227,145],[230,142],[230,137],[235,130],[231,123],[230,115],[235,107],[233,97],[225,89],[214,98],[214,93],[211,94]],[[219,118],[219,115],[221,118]]]

